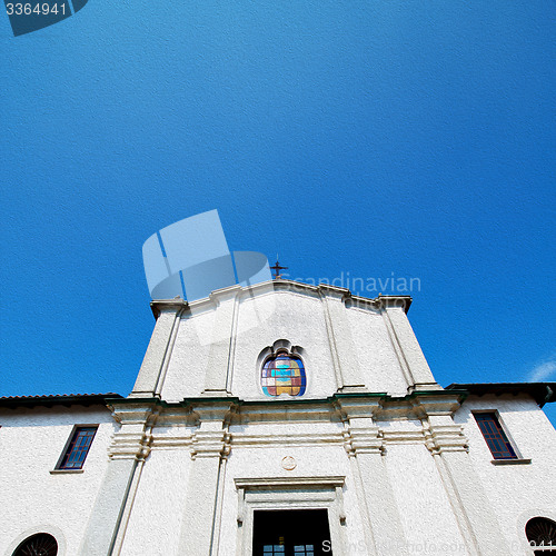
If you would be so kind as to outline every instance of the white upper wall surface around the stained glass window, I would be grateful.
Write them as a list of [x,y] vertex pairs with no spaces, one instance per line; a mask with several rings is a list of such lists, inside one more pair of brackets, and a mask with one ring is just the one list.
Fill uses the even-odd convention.
[[[346,307],[334,301],[331,327],[327,327],[325,302],[315,292],[278,290],[238,301],[215,296],[212,305],[195,304],[180,319],[176,341],[171,346],[161,396],[169,401],[200,396],[209,368],[228,375],[228,390],[241,399],[265,399],[260,388],[260,353],[276,340],[286,339],[304,349],[307,371],[307,398],[326,398],[339,386],[332,350],[339,365],[360,376],[370,391],[405,395],[404,377],[384,318],[370,307]],[[207,306],[208,304],[208,306]],[[234,304],[237,316],[234,320]],[[340,307],[340,314],[337,312]],[[265,318],[262,318],[265,317]],[[339,320],[340,319],[340,320]],[[254,321],[257,326],[254,326]],[[334,335],[334,339],[331,338]],[[216,338],[215,345],[203,338]],[[220,344],[220,348],[218,347]]]

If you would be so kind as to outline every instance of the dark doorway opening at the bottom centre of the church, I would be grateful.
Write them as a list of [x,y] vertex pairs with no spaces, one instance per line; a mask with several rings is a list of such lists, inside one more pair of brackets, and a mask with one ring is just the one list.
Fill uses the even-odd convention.
[[332,554],[326,509],[255,512],[254,556],[329,556]]

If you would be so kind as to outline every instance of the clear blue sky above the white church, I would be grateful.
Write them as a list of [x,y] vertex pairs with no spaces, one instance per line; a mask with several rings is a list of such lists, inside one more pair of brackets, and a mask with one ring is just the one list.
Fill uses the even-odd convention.
[[214,208],[292,278],[418,278],[441,385],[556,380],[555,12],[90,0],[18,38],[0,18],[0,395],[127,395],[155,322],[141,246]]

